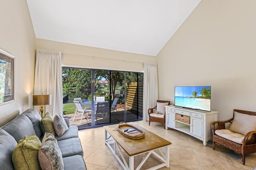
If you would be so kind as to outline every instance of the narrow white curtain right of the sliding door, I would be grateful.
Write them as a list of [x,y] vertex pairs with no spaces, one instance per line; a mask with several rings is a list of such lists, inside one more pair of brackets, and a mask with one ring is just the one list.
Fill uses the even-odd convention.
[[148,109],[158,100],[158,78],[156,63],[144,63],[143,120],[148,121]]

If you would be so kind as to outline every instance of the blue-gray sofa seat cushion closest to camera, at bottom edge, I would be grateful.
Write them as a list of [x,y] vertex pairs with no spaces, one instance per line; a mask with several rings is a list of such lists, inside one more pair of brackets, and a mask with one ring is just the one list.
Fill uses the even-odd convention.
[[77,170],[86,170],[84,159],[81,155],[68,156],[63,158],[64,170],[74,170],[76,165]]

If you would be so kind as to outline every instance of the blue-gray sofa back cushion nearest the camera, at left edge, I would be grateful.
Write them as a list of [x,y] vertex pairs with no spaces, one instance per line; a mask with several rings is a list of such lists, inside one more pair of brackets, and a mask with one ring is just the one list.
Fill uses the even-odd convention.
[[17,146],[15,139],[0,128],[0,170],[13,170],[12,151]]

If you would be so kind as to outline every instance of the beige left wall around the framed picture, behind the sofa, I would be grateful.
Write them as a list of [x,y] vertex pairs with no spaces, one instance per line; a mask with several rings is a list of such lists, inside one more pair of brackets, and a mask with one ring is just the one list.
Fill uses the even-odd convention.
[[32,107],[36,37],[26,0],[0,1],[0,49],[15,56],[16,101],[0,107],[0,126]]

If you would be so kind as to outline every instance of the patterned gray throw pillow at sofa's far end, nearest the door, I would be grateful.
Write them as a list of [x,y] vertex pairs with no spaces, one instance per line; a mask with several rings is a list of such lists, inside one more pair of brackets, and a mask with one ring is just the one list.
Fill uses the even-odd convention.
[[53,125],[54,125],[54,129],[55,129],[55,132],[58,137],[61,137],[68,130],[66,121],[61,114],[56,115],[54,117]]

